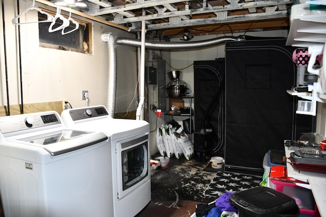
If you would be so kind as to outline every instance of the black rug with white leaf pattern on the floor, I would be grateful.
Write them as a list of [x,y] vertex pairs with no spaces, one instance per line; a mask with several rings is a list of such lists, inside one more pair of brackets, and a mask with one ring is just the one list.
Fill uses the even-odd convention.
[[259,186],[261,176],[232,172],[218,172],[206,188],[204,195],[219,197],[226,192],[240,192]]

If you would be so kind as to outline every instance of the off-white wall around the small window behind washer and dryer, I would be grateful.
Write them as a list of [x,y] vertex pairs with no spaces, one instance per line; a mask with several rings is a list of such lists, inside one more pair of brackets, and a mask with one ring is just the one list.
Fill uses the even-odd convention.
[[[17,15],[16,1],[5,0],[7,71],[10,104],[20,103],[18,26],[11,23]],[[32,1],[20,1],[20,10],[32,5]],[[37,20],[36,10],[26,13],[21,20]],[[21,68],[23,102],[48,102],[68,99],[73,107],[86,106],[82,90],[89,91],[89,105],[106,105],[107,102],[107,44],[102,42],[102,33],[114,37],[135,36],[124,30],[93,22],[93,55],[39,47],[38,23],[21,24]],[[3,31],[1,27],[1,31]],[[3,32],[2,35],[3,36]],[[3,37],[1,37],[3,40]],[[2,41],[3,45],[3,41]],[[0,102],[7,104],[5,83],[5,53],[1,46],[1,92]],[[117,46],[117,107],[116,112],[126,112],[131,102],[137,80],[137,51],[130,46]],[[129,109],[135,110],[133,103]]]

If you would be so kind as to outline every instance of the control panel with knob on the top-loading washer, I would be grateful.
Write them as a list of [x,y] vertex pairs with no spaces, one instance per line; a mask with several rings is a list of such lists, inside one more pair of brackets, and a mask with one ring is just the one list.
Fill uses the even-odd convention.
[[61,126],[61,119],[57,112],[50,111],[0,117],[0,130],[2,133],[16,132],[49,125]]

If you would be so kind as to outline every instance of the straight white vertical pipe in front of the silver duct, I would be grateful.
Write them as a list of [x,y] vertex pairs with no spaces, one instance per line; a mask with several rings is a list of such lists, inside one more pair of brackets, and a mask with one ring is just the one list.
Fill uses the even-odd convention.
[[[143,11],[145,15],[145,11]],[[146,36],[146,22],[142,20],[142,37],[141,37],[141,71],[140,71],[140,97],[139,104],[136,111],[136,120],[144,120],[143,105],[145,101],[145,36]]]

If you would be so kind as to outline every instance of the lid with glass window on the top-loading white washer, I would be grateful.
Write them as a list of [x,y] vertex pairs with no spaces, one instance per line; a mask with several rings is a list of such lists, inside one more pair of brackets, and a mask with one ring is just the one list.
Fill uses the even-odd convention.
[[35,135],[19,139],[18,141],[44,146],[52,156],[64,154],[77,149],[85,148],[107,140],[102,132],[90,132],[64,129],[60,131]]

